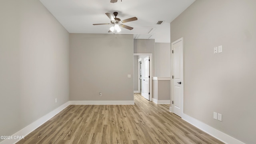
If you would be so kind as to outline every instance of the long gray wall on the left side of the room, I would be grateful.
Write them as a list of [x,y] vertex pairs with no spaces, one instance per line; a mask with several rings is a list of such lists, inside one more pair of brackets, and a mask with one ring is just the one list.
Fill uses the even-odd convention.
[[1,0],[0,18],[0,136],[8,136],[68,102],[69,34],[38,0]]

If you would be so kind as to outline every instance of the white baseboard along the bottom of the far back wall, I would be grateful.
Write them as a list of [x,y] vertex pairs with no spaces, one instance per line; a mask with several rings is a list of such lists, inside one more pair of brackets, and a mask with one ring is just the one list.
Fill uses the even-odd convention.
[[133,105],[134,100],[77,100],[70,101],[71,105]]

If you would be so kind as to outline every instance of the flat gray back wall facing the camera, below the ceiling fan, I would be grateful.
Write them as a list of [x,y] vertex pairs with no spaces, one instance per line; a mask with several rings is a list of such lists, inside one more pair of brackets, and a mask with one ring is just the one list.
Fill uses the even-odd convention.
[[70,100],[134,100],[133,59],[132,35],[70,34]]

